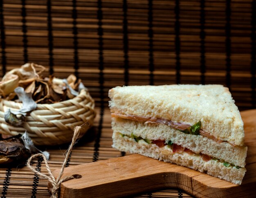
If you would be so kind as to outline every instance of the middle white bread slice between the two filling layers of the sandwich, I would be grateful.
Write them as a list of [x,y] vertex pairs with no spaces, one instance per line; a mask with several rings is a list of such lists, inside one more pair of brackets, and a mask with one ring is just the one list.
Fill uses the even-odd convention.
[[185,134],[164,124],[144,124],[128,119],[112,118],[112,130],[131,136],[133,133],[143,139],[172,141],[195,153],[207,154],[223,159],[236,166],[245,167],[246,146],[233,146],[227,142],[217,143],[202,135]]

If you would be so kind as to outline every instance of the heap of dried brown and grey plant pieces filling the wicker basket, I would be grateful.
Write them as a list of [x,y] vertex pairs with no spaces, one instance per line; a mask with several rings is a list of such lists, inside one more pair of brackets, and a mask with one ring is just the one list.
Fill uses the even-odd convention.
[[36,109],[37,103],[55,103],[72,99],[86,89],[81,79],[70,75],[67,79],[43,77],[44,66],[26,63],[7,72],[0,81],[0,97],[22,102],[18,111],[6,110],[4,119],[14,126],[22,126],[27,114]]

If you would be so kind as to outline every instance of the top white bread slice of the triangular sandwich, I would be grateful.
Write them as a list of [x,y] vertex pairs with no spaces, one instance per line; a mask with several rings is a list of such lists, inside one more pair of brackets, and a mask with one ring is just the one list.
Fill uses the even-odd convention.
[[109,90],[111,112],[176,122],[202,122],[201,129],[222,141],[244,145],[243,121],[222,85],[124,86]]

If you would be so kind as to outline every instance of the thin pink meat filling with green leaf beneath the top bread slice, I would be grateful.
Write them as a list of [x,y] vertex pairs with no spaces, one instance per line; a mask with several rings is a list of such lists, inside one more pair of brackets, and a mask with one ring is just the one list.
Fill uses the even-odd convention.
[[[143,117],[143,116],[136,116],[136,115],[130,115],[130,114],[121,114],[121,113],[116,113],[116,112],[111,113],[111,117],[129,119],[129,120],[138,121],[138,122],[144,122],[145,124],[147,124],[147,123],[164,124],[164,125],[170,126],[173,129],[184,132],[186,134],[205,136],[209,139],[212,139],[212,140],[216,141],[217,143],[228,142],[228,141],[221,140],[221,138],[216,138],[215,136],[213,136],[213,135],[205,132],[204,130],[200,129],[201,128],[201,122],[200,121],[198,123],[195,123],[194,125],[191,125],[189,123],[180,123],[180,122],[175,122],[175,121],[162,119],[162,118]],[[230,143],[230,142],[228,142],[228,143]],[[232,146],[236,146],[233,143],[230,143],[230,144]]]

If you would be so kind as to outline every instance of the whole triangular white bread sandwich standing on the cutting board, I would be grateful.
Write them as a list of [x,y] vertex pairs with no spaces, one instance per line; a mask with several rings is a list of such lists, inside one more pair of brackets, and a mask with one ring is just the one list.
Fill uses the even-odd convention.
[[112,147],[242,183],[245,133],[228,88],[124,86],[109,97]]

